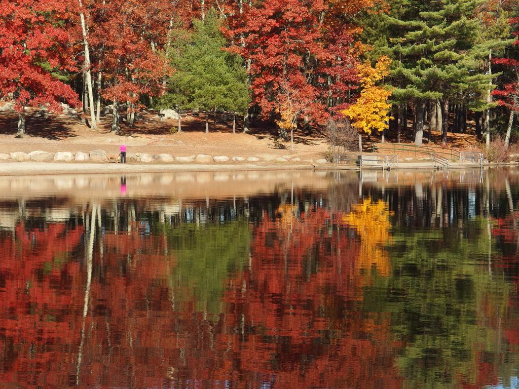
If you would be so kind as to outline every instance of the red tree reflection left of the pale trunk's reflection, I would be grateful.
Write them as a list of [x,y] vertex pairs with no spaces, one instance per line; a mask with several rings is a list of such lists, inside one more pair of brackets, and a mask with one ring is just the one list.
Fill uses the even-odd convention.
[[79,337],[70,312],[78,309],[82,287],[70,253],[82,234],[64,224],[18,225],[15,237],[0,241],[0,382],[62,386],[56,361]]

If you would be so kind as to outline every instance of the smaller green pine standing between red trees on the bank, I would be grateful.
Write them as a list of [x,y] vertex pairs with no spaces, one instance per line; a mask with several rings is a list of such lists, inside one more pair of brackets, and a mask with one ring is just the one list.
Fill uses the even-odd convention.
[[[216,115],[217,109],[243,114],[250,102],[247,72],[243,60],[225,50],[220,20],[210,10],[204,21],[195,20],[193,32],[177,33],[169,57],[176,72],[168,81],[168,93],[160,107],[203,109]],[[173,41],[173,39],[172,39]],[[209,114],[206,132],[209,132]]]

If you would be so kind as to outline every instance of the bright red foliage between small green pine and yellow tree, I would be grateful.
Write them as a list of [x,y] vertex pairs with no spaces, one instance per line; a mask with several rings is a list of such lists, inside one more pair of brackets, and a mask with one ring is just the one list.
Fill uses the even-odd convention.
[[[245,3],[245,2],[243,2]],[[356,6],[353,7],[352,5]],[[357,85],[357,29],[347,17],[372,1],[272,0],[236,4],[225,34],[250,61],[253,101],[264,115],[286,103],[322,121]],[[297,112],[298,109],[295,109]]]

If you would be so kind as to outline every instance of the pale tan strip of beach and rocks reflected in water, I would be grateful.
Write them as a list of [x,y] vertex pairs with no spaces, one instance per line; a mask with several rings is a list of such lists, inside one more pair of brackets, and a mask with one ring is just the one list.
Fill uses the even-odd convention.
[[[510,183],[519,182],[515,169],[454,171],[201,171],[127,174],[76,174],[42,176],[0,176],[0,200],[31,199],[47,196],[71,198],[83,202],[128,198],[212,199],[261,195],[304,188],[326,191],[343,184],[384,188],[411,186],[427,188],[480,185],[506,175]],[[125,177],[121,191],[121,177]],[[494,184],[493,184],[494,185]],[[423,190],[423,189],[422,189]]]

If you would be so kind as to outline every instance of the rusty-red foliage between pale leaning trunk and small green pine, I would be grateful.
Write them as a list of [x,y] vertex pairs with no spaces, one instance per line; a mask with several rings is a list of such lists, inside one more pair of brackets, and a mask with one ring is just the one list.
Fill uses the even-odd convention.
[[85,2],[91,66],[94,74],[102,73],[104,99],[137,104],[142,95],[161,93],[169,68],[160,53],[166,49],[170,20],[180,3]]

